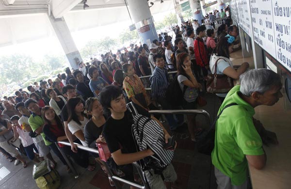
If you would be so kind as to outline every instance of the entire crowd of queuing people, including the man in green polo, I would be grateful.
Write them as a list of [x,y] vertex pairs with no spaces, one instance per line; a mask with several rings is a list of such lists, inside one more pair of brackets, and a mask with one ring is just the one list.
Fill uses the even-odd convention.
[[[227,11],[229,15],[227,9],[226,14],[222,14],[223,11],[219,14],[220,17],[227,17]],[[211,13],[210,22],[212,16]],[[194,20],[193,24],[185,22],[183,30],[183,34],[187,35],[186,42],[177,28],[174,44],[171,36],[160,34],[149,47],[146,44],[130,44],[129,50],[125,48],[116,54],[107,52],[101,55],[100,60],[91,58],[86,65],[81,62],[77,70],[65,69],[65,73],[58,74],[54,81],[42,80],[40,85],[35,82],[34,86],[27,87],[29,92],[19,90],[15,92],[16,96],[4,97],[0,116],[1,153],[9,161],[16,159],[16,162],[22,162],[25,168],[26,160],[8,143],[13,137],[20,137],[27,157],[35,163],[48,158],[55,167],[57,163],[50,154],[52,151],[70,172],[60,149],[81,167],[93,171],[97,162],[107,174],[98,155],[77,149],[75,144],[96,148],[96,143],[106,142],[112,155],[108,164],[114,174],[133,181],[131,163],[155,153],[150,148],[137,150],[131,132],[133,120],[126,104],[134,103],[139,114],[156,121],[167,143],[170,134],[164,129],[160,117],[151,115],[148,110],[157,109],[158,105],[162,109],[197,109],[197,98],[205,90],[204,77],[215,72],[241,82],[241,86],[235,86],[228,94],[216,94],[222,103],[219,112],[229,103],[238,104],[228,107],[216,122],[218,129],[212,162],[217,184],[221,188],[231,185],[245,187],[247,162],[258,169],[263,167],[265,154],[261,137],[266,138],[270,134],[262,125],[259,133],[256,131],[259,121],[252,118],[254,107],[273,105],[282,96],[280,78],[265,69],[246,72],[248,63],[234,68],[229,54],[237,41],[236,26],[223,23],[216,33],[214,28],[207,29],[206,25],[200,26]],[[166,100],[169,71],[177,71],[174,82],[178,82],[181,90],[180,105]],[[151,95],[146,92],[141,76],[149,76]],[[186,116],[191,140],[195,141],[195,135],[201,132],[201,128],[196,127],[195,116]],[[165,115],[165,118],[174,132],[184,124],[183,115]],[[254,126],[255,123],[258,124]],[[222,129],[224,125],[227,129]],[[274,135],[272,139],[275,140]],[[68,140],[71,148],[57,144],[58,149],[55,142],[62,140]],[[90,162],[90,156],[96,162]],[[164,167],[161,174],[153,170],[145,173],[151,188],[169,188],[177,179],[172,164]],[[111,178],[109,180],[113,185]]]

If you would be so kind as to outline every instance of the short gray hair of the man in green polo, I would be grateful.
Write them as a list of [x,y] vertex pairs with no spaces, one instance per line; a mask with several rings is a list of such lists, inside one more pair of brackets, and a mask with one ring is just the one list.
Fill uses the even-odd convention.
[[253,92],[263,94],[271,86],[280,86],[281,78],[279,74],[270,69],[251,69],[240,75],[240,83],[243,95],[249,97]]

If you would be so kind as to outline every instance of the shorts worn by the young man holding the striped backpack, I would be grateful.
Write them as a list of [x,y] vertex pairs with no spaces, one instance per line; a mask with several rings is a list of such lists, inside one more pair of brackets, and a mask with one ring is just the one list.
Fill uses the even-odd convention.
[[162,176],[160,174],[155,174],[154,170],[145,171],[147,182],[151,189],[166,189],[165,182],[174,182],[177,180],[177,173],[175,172],[174,166],[172,164],[168,165],[165,170],[162,171]]

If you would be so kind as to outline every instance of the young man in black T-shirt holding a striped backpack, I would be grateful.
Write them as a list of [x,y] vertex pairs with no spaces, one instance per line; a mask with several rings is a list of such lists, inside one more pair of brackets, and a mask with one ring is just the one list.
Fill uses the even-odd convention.
[[[117,86],[106,86],[99,93],[100,103],[111,112],[111,117],[106,121],[103,128],[103,136],[106,139],[108,148],[117,165],[125,165],[127,170],[123,170],[127,177],[133,180],[131,163],[138,161],[144,157],[154,155],[151,149],[137,151],[135,141],[131,133],[131,125],[133,123],[131,113],[126,107],[125,98],[122,90]],[[135,104],[139,114],[148,118],[156,120],[163,128],[162,123],[151,116],[144,108]],[[171,137],[168,132],[163,128],[165,134],[165,143]],[[127,165],[126,165],[127,164]],[[151,188],[166,189],[171,188],[171,182],[177,179],[177,174],[172,164],[168,165],[162,171],[166,187],[162,176],[155,174],[153,170],[145,171],[147,181]]]

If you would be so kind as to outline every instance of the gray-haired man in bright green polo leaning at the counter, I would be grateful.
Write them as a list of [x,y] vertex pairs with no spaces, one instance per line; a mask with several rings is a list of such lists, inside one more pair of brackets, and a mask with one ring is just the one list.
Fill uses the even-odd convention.
[[240,86],[227,94],[216,121],[215,147],[211,153],[218,189],[246,189],[248,164],[262,169],[266,154],[262,143],[277,144],[275,133],[253,118],[258,105],[274,105],[282,97],[281,79],[269,69],[253,69],[240,76]]

